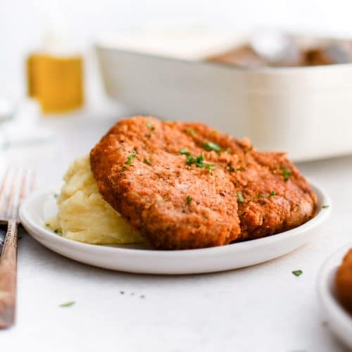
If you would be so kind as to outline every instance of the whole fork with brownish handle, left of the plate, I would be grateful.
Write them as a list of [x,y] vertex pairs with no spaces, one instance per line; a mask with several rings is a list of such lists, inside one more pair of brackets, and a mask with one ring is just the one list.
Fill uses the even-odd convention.
[[8,169],[0,187],[0,222],[7,224],[0,257],[0,328],[15,322],[18,208],[34,188],[34,172]]

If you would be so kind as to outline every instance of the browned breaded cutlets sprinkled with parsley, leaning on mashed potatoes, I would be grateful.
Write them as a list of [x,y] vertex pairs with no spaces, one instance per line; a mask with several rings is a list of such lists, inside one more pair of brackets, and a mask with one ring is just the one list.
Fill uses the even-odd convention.
[[120,120],[90,153],[99,191],[156,249],[268,236],[313,217],[315,196],[284,153],[201,123]]

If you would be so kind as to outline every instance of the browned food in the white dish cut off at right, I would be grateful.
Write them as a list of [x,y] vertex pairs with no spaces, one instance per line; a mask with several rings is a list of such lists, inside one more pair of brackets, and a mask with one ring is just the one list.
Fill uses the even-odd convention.
[[342,306],[352,313],[352,249],[346,253],[337,270],[335,286]]

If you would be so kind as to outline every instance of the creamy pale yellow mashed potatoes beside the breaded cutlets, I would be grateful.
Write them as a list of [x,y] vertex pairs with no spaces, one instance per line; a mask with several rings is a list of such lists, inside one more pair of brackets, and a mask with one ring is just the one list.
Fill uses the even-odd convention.
[[77,158],[64,177],[58,196],[58,215],[49,226],[63,237],[90,244],[142,242],[139,233],[101,198],[90,169],[89,156]]

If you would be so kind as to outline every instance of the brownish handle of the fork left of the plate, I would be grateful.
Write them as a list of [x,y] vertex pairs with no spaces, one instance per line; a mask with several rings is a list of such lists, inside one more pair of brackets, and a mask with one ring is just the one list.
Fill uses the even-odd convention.
[[6,239],[0,258],[0,328],[15,323],[16,276],[17,276],[16,220],[8,220]]

